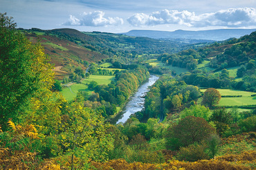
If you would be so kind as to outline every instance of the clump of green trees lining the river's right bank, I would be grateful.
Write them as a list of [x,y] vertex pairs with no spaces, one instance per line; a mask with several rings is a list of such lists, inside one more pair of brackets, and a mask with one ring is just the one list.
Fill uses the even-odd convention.
[[[140,121],[149,117],[165,116],[171,110],[179,110],[183,104],[196,100],[201,93],[199,88],[176,81],[172,76],[162,76],[145,97],[145,110],[136,113]],[[193,104],[195,102],[192,102]]]

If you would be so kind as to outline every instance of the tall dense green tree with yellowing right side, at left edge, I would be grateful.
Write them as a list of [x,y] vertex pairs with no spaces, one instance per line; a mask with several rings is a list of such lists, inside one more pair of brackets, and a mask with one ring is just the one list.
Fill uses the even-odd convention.
[[44,48],[13,30],[15,24],[4,15],[0,15],[0,125],[6,130],[8,119],[18,122],[30,100],[51,89],[54,73]]

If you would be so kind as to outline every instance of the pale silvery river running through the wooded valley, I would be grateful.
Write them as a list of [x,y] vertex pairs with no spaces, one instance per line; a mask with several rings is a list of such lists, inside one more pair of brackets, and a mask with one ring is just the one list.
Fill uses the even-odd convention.
[[145,84],[138,88],[138,91],[130,98],[129,102],[125,105],[121,113],[121,117],[118,119],[116,124],[122,122],[125,123],[131,114],[141,111],[144,108],[145,98],[144,96],[149,91],[149,87],[152,86],[159,77],[155,75],[150,75],[149,79]]

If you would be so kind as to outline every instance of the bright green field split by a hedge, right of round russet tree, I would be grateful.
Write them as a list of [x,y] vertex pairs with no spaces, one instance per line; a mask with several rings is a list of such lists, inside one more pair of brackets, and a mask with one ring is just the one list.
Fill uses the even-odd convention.
[[[248,106],[256,104],[256,96],[251,97],[250,95],[256,95],[256,93],[248,91],[237,91],[232,89],[217,89],[221,95],[242,95],[242,97],[222,97],[217,106]],[[206,89],[201,89],[201,92]]]

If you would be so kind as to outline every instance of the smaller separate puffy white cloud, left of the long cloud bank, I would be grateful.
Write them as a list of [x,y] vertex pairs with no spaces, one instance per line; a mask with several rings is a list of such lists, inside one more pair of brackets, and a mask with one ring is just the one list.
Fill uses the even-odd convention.
[[68,21],[63,23],[66,26],[118,26],[124,21],[120,17],[104,17],[104,12],[84,12],[80,19],[70,15]]

